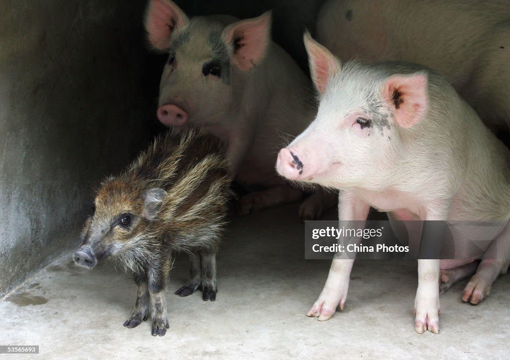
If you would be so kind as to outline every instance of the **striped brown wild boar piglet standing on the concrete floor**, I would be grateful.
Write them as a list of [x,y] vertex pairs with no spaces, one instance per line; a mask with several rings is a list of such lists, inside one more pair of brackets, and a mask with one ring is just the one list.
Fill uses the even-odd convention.
[[124,173],[100,184],[73,259],[91,269],[115,256],[133,271],[137,299],[124,326],[146,320],[150,299],[152,335],[165,335],[173,251],[188,252],[191,266],[189,281],[175,294],[201,288],[203,300],[216,299],[216,250],[231,181],[223,142],[191,130],[158,137]]

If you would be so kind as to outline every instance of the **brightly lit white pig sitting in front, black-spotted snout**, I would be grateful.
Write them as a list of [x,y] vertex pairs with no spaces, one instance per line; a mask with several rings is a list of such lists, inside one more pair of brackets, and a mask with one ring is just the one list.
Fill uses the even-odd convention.
[[[510,154],[448,82],[407,63],[341,63],[305,35],[317,117],[277,158],[279,174],[340,189],[339,219],[365,221],[370,206],[395,220],[498,221],[484,259],[418,260],[417,332],[439,332],[439,280],[474,274],[463,300],[487,297],[510,259]],[[424,230],[425,231],[425,230]],[[496,251],[497,250],[497,251]],[[309,316],[343,308],[353,260],[335,259]],[[476,273],[475,273],[476,272]]]

